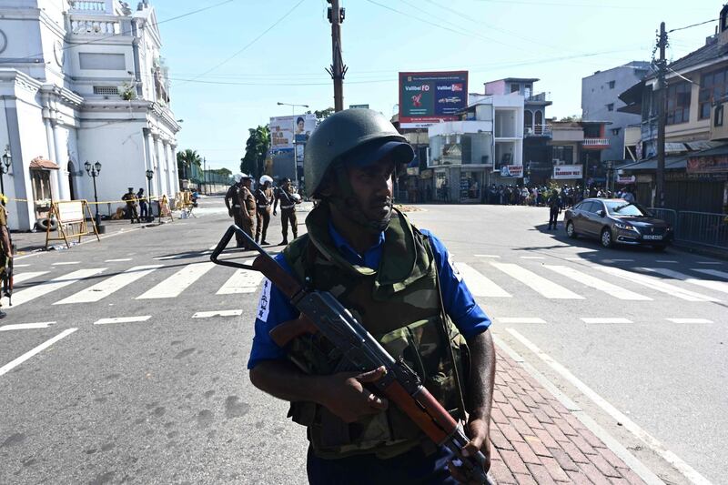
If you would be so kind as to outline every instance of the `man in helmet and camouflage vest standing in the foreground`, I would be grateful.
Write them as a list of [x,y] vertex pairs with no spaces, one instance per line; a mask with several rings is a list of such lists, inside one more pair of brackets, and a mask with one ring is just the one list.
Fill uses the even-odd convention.
[[[467,419],[466,454],[482,450],[488,469],[495,376],[490,319],[440,239],[392,207],[393,178],[413,157],[404,136],[376,111],[329,116],[311,135],[304,156],[307,195],[319,204],[306,217],[307,234],[277,259],[310,288],[335,295],[393,358],[418,372],[455,419]],[[250,380],[290,401],[288,415],[308,428],[310,483],[462,479],[450,450],[432,443],[370,390],[368,383],[381,379],[383,369],[342,372],[340,355],[317,336],[278,348],[268,332],[298,312],[270,285],[261,302]]]

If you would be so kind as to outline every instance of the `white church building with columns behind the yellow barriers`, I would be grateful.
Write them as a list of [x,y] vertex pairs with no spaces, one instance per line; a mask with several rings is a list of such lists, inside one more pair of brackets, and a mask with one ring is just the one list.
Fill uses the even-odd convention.
[[[28,230],[51,200],[99,201],[134,187],[174,199],[180,129],[147,0],[0,2],[0,167],[9,227]],[[99,205],[106,214],[119,204]],[[92,209],[93,210],[93,209]]]

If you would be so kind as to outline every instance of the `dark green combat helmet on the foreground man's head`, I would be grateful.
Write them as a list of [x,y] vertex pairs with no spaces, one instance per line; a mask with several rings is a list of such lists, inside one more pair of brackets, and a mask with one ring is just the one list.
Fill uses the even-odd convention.
[[[326,118],[308,139],[303,156],[308,197],[315,197],[334,162],[356,148],[376,141],[407,144],[407,139],[399,135],[386,117],[371,109],[345,109]],[[400,157],[403,163],[410,163],[414,155],[411,147],[407,147],[409,153],[403,150]]]

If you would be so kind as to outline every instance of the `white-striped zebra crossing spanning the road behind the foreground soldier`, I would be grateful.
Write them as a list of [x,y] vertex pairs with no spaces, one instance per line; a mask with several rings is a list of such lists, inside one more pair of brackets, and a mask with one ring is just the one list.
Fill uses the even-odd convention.
[[[130,258],[129,258],[130,261]],[[127,262],[127,261],[124,261]],[[131,268],[75,268],[56,276],[67,267],[43,268],[19,272],[13,306],[37,298],[53,305],[79,305],[110,299],[122,288],[138,292],[136,300],[179,298],[194,292],[204,298],[257,293],[263,276],[247,269],[223,268],[209,261],[170,264],[156,259],[155,264],[137,264]],[[252,259],[246,261],[248,264]],[[562,261],[560,261],[562,262]],[[177,263],[177,261],[176,261]],[[55,268],[55,269],[54,269]],[[595,294],[623,301],[653,301],[681,298],[691,302],[723,301],[728,294],[728,271],[713,268],[616,268],[613,266],[577,266],[550,262],[507,262],[501,258],[475,259],[455,263],[475,297],[545,298],[547,300],[588,300]],[[40,268],[38,268],[40,269]],[[210,275],[217,275],[211,284]],[[157,281],[150,275],[163,277]],[[147,283],[155,279],[152,283]],[[224,282],[222,282],[224,279]],[[220,285],[220,286],[217,286]],[[66,288],[65,291],[61,291]],[[69,294],[68,289],[75,291]],[[77,289],[76,289],[77,288]],[[125,293],[125,298],[129,296]]]

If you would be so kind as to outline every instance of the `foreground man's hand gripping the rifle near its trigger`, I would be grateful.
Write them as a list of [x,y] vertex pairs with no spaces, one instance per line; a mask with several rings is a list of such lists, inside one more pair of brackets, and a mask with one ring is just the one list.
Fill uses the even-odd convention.
[[387,409],[389,402],[363,385],[381,379],[386,373],[380,367],[369,372],[339,372],[323,377],[320,403],[348,423],[377,414]]

